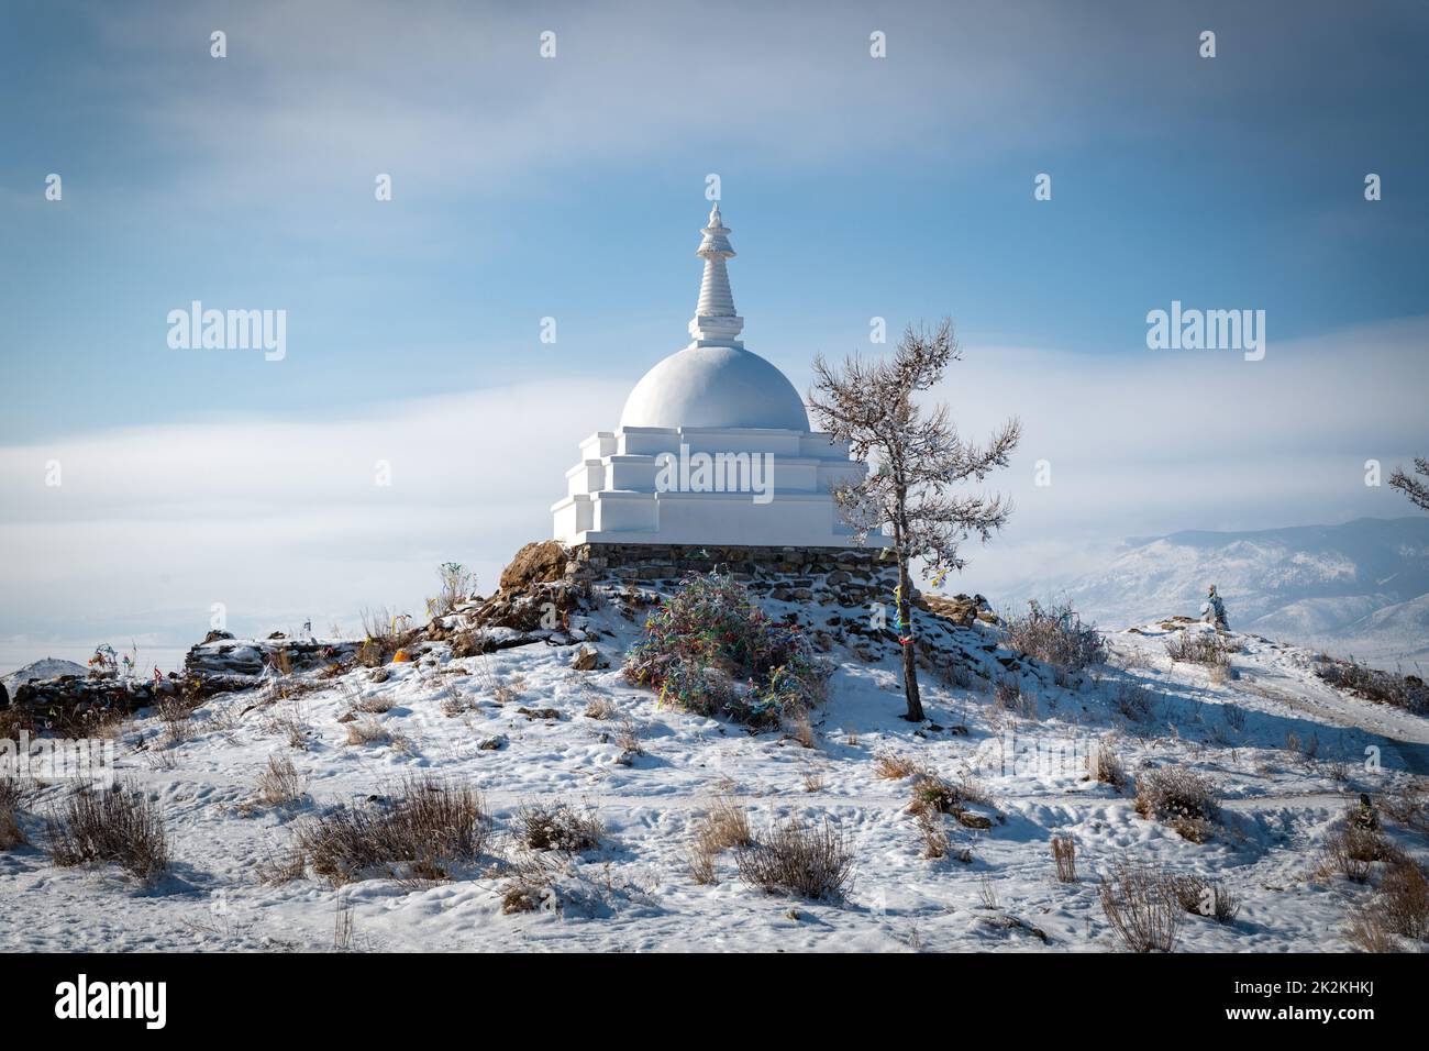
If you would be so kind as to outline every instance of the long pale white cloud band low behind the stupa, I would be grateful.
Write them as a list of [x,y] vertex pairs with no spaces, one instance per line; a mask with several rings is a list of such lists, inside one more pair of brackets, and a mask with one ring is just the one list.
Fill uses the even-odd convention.
[[[1026,438],[990,479],[1019,505],[1012,525],[969,549],[969,571],[949,585],[999,595],[1050,582],[1100,565],[1130,535],[1408,513],[1388,488],[1365,488],[1362,465],[1379,458],[1388,476],[1422,446],[1426,336],[1426,319],[1272,335],[1255,363],[970,346],[936,396],[969,436],[1016,413]],[[211,602],[244,629],[353,625],[364,606],[419,612],[449,559],[490,586],[520,543],[549,535],[577,442],[614,425],[632,382],[553,379],[360,416],[0,448],[0,635],[191,641]],[[44,485],[50,459],[57,489]],[[392,462],[392,488],[373,485],[379,459]],[[1033,485],[1037,459],[1052,462],[1050,488]]]

